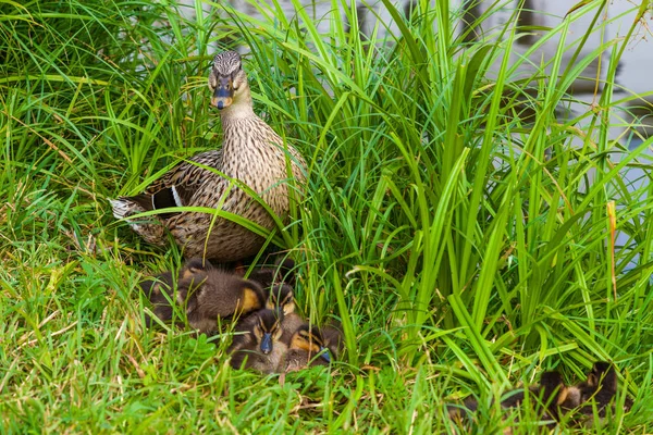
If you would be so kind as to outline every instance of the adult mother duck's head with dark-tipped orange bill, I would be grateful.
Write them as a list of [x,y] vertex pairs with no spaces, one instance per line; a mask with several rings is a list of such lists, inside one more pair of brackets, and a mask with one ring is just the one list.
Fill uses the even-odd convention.
[[222,110],[232,105],[247,88],[247,75],[243,71],[241,54],[222,51],[213,58],[209,73],[211,104]]

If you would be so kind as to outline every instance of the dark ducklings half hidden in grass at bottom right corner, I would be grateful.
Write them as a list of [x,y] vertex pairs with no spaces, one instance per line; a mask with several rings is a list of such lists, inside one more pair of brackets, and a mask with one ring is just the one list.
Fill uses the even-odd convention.
[[[549,427],[554,427],[562,421],[590,426],[594,418],[605,418],[616,394],[617,372],[614,365],[597,361],[588,373],[587,381],[576,385],[566,385],[557,371],[544,372],[539,385],[507,393],[501,401],[501,408],[507,412],[529,403],[540,420],[547,422],[545,425]],[[628,411],[631,405],[627,400],[625,410]],[[472,419],[478,408],[478,400],[473,397],[467,398],[463,405],[447,405],[449,418],[460,424]]]

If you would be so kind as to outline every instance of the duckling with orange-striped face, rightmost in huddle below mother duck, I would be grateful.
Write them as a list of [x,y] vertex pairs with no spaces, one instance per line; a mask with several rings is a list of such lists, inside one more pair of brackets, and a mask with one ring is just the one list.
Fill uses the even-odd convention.
[[288,351],[284,357],[283,372],[296,372],[307,366],[329,365],[331,355],[324,346],[320,331],[308,323],[293,334]]

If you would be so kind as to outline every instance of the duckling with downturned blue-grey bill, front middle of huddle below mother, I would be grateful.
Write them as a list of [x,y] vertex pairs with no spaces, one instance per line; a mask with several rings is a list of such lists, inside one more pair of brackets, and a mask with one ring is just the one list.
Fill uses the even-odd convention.
[[281,340],[279,310],[256,311],[236,325],[236,333],[229,349],[232,353],[231,366],[254,369],[261,373],[275,373],[283,362],[287,345]]

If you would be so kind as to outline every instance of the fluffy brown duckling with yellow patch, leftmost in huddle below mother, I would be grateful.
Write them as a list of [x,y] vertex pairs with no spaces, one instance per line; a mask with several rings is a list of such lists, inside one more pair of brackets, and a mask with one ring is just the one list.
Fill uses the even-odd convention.
[[[171,273],[162,275],[162,281],[172,281]],[[175,295],[175,302],[184,308],[188,324],[206,334],[217,331],[218,319],[246,315],[266,306],[266,294],[258,283],[212,268],[201,259],[188,260],[180,271],[176,294],[172,285],[152,287],[150,300],[161,320],[172,318],[169,300],[174,300]]]

